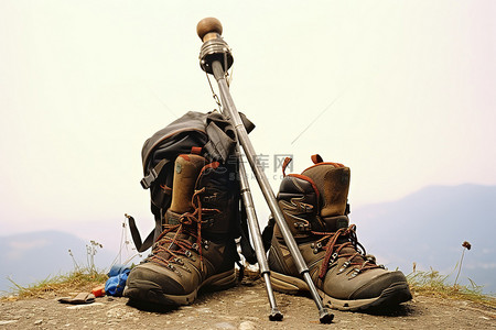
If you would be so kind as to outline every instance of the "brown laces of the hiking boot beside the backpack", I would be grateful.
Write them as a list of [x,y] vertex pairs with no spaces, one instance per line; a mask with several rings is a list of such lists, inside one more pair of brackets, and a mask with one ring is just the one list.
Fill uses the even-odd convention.
[[[204,217],[219,213],[218,209],[207,209],[202,207],[201,194],[205,188],[195,190],[192,198],[193,212],[181,215],[177,224],[165,224],[164,230],[157,239],[152,248],[150,261],[157,264],[174,270],[172,263],[183,265],[181,257],[191,257],[191,251],[197,251],[200,255],[200,264],[203,271],[203,241],[202,241],[202,223]],[[174,235],[169,233],[174,232]],[[169,235],[168,235],[169,234]],[[194,240],[191,240],[193,238]]]

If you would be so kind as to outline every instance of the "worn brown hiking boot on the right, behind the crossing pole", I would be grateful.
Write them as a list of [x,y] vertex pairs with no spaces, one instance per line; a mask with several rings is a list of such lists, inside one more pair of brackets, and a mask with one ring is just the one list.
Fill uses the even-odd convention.
[[[319,155],[312,160],[315,165],[301,175],[284,176],[278,202],[324,304],[341,310],[359,310],[410,300],[403,273],[377,265],[358,243],[355,224],[349,226],[349,168],[324,163]],[[289,294],[309,290],[278,226],[269,265],[274,289]]]

